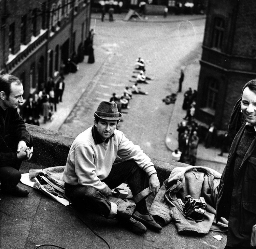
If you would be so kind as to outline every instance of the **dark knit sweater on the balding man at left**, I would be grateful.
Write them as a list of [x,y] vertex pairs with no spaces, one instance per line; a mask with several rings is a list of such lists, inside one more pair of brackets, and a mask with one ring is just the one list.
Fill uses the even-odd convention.
[[30,136],[25,122],[19,116],[17,109],[7,108],[5,111],[0,107],[0,166],[8,166],[17,161],[17,153],[12,152],[5,142],[5,136],[11,135],[16,141],[24,140],[29,143]]

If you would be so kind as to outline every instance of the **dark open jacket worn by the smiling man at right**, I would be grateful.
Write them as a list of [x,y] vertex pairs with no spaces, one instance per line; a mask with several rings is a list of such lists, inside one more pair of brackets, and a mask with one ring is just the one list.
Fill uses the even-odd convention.
[[[233,176],[236,151],[245,125],[244,121],[234,137],[218,188],[216,221],[221,217],[228,219],[229,227],[234,232],[228,233],[228,246],[250,246],[252,226],[256,224],[256,138],[245,153],[238,173]],[[237,126],[230,128],[237,129]]]

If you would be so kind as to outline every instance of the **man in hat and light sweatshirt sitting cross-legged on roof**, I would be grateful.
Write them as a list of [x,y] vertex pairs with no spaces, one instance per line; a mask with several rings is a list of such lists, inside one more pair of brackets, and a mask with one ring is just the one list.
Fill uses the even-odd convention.
[[[116,103],[102,101],[94,117],[94,126],[79,134],[71,145],[63,173],[66,195],[75,205],[120,220],[134,233],[143,234],[146,227],[161,230],[148,213],[145,198],[136,203],[131,217],[106,198],[124,181],[133,196],[148,187],[156,195],[160,184],[150,158],[116,130],[122,118]],[[117,156],[125,161],[114,163]]]

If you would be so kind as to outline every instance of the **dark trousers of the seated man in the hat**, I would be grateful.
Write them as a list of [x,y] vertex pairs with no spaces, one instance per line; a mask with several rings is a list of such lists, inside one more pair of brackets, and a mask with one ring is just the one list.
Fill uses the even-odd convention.
[[[114,189],[127,181],[133,196],[148,188],[146,173],[133,160],[114,163],[109,176],[102,181],[110,189]],[[105,218],[109,217],[111,203],[101,191],[94,187],[72,186],[65,183],[65,193],[73,204],[89,208]]]

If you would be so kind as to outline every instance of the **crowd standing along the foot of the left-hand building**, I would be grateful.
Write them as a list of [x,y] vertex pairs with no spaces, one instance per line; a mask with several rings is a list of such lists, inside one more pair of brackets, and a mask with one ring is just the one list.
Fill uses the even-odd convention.
[[71,58],[67,61],[61,61],[59,77],[54,80],[53,77],[48,77],[46,83],[41,84],[41,89],[35,94],[30,94],[22,116],[25,122],[29,124],[40,125],[40,118],[42,122],[52,121],[54,112],[57,112],[57,104],[62,102],[62,95],[65,90],[65,74],[75,73],[79,67],[78,63],[84,60],[84,56],[88,56],[88,63],[94,63],[93,51],[93,37],[94,30],[91,29],[84,44],[80,44],[77,49],[77,54],[74,51]]

